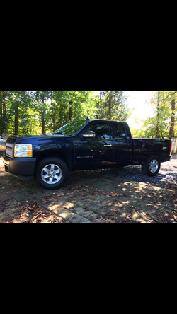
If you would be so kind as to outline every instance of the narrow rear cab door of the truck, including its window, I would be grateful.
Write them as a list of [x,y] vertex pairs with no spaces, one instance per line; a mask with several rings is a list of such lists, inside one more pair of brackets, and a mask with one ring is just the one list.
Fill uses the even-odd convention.
[[129,165],[132,161],[132,136],[125,122],[111,122],[114,144],[114,165]]

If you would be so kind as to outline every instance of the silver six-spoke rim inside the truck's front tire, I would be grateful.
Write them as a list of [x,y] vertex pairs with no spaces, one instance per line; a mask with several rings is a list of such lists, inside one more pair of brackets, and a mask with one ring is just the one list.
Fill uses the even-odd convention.
[[48,185],[54,185],[62,179],[62,170],[55,164],[45,165],[41,171],[41,178]]

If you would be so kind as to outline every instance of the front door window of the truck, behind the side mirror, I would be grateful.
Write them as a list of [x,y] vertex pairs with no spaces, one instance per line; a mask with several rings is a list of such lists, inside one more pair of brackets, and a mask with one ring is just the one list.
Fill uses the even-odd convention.
[[110,139],[110,130],[108,123],[97,122],[92,124],[86,131],[94,131],[96,134],[95,139]]

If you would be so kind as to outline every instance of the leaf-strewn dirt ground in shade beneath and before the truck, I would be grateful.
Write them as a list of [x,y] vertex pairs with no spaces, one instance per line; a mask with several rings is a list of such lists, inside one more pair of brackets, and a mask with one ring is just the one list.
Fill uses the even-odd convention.
[[176,194],[84,171],[69,173],[59,190],[43,190],[5,173],[0,156],[0,223],[177,223]]

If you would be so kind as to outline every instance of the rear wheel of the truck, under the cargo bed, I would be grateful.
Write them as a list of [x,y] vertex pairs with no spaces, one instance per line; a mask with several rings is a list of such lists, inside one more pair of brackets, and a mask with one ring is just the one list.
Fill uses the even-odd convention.
[[142,173],[144,173],[144,175],[148,175],[149,177],[154,177],[157,173],[159,173],[160,168],[160,158],[156,155],[152,155],[147,158],[145,165],[142,165]]

